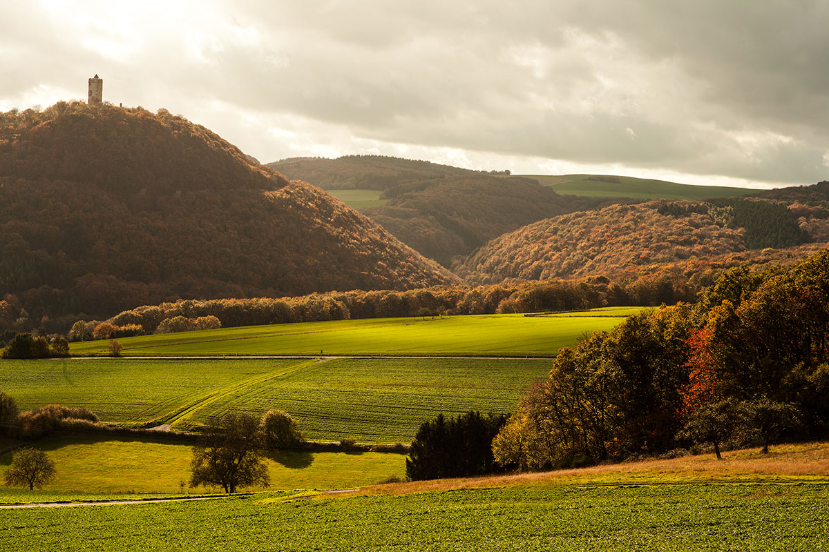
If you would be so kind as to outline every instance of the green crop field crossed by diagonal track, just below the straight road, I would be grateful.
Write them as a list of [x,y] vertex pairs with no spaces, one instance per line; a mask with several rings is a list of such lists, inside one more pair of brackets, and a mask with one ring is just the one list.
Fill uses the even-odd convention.
[[0,389],[27,410],[89,406],[105,422],[201,425],[279,408],[308,439],[408,442],[439,412],[507,413],[547,359],[332,358],[6,360]]

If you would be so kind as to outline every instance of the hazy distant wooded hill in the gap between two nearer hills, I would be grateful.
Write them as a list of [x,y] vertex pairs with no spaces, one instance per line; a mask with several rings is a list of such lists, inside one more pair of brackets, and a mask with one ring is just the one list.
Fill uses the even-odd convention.
[[303,157],[269,166],[326,190],[382,190],[381,198],[388,201],[362,212],[444,266],[541,218],[631,201],[565,197],[528,178],[396,157]]

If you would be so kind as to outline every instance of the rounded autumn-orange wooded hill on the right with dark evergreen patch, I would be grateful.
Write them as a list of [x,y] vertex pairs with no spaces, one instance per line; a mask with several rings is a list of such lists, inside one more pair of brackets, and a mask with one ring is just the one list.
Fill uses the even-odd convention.
[[760,199],[618,204],[532,223],[493,239],[453,268],[469,283],[638,277],[666,267],[690,276],[689,267],[699,271],[706,264],[724,268],[761,255],[780,257],[765,248],[784,249],[783,257],[794,258],[813,252],[814,247],[785,249],[814,241],[808,228],[821,230],[822,239],[825,220],[808,215]]

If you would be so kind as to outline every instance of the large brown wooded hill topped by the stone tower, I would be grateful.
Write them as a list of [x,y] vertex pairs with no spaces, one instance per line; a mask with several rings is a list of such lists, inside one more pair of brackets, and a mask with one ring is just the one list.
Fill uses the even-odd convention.
[[456,281],[205,127],[107,104],[0,114],[0,246],[7,316],[34,326],[177,297]]

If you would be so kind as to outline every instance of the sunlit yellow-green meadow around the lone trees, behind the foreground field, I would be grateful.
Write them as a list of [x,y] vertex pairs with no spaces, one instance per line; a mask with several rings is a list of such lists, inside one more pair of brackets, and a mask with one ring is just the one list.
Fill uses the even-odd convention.
[[[135,493],[170,496],[179,494],[181,483],[187,483],[190,477],[192,453],[191,445],[187,444],[158,442],[156,439],[64,435],[41,439],[35,446],[55,461],[56,481],[45,490],[51,493],[82,491],[104,497]],[[0,473],[11,462],[12,453],[0,455]],[[405,476],[405,456],[402,454],[284,451],[272,454],[266,463],[271,479],[269,488],[274,490],[353,488],[380,482],[391,475]],[[188,492],[187,486],[184,490]],[[196,487],[189,492],[217,491]],[[20,490],[2,490],[0,502],[20,502],[21,494]]]

